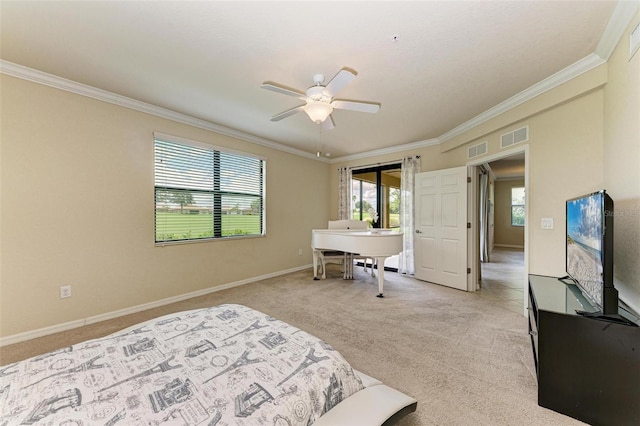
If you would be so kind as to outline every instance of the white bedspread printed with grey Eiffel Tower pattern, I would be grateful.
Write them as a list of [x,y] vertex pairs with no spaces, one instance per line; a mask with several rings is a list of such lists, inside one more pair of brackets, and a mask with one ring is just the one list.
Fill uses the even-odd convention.
[[0,425],[309,425],[360,389],[325,342],[221,305],[0,367]]

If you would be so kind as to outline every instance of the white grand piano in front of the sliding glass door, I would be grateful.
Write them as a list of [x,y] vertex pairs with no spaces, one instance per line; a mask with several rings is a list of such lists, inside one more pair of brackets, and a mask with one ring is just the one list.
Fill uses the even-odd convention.
[[[313,279],[318,279],[318,260],[324,250],[347,253],[345,278],[353,278],[353,255],[373,258],[378,264],[378,297],[384,292],[384,260],[402,251],[402,233],[391,229],[314,229],[311,231],[313,249]],[[373,265],[372,265],[373,267]],[[323,271],[324,272],[324,271]]]

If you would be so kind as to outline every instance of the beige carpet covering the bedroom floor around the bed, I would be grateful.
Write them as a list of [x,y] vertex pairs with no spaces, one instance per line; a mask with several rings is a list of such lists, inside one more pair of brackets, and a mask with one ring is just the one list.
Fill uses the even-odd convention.
[[537,405],[527,321],[480,294],[386,273],[377,281],[338,265],[326,280],[302,271],[0,349],[0,364],[31,357],[170,312],[240,303],[330,343],[354,368],[418,400],[414,425],[578,425]]

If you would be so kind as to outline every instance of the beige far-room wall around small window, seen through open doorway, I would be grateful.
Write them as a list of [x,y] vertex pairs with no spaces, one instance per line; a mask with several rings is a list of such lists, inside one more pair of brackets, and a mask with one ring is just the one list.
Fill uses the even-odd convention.
[[494,240],[496,246],[524,247],[524,226],[511,225],[511,188],[524,187],[524,179],[494,183]]

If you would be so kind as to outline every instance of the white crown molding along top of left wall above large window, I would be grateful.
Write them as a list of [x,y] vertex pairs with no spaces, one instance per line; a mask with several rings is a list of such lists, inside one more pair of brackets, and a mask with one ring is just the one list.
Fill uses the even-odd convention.
[[[246,142],[254,143],[256,145],[266,146],[268,148],[276,149],[278,151],[284,151],[289,154],[298,155],[300,157],[305,157],[311,160],[324,160],[322,158],[318,159],[314,154],[311,154],[309,152],[282,145],[272,140],[261,138],[250,133],[241,132],[239,130],[212,123],[210,121],[195,118],[190,115],[148,104],[146,102],[137,101],[126,96],[121,96],[116,93],[88,86],[86,84],[78,83],[66,78],[58,77],[53,74],[38,71],[33,68],[25,67],[23,65],[18,65],[13,62],[0,60],[0,73],[53,87],[55,89],[75,93],[77,95],[97,99],[99,101],[108,102],[135,111],[140,111],[146,114],[154,115],[156,117],[164,118],[182,124],[187,124],[199,129],[209,130],[224,136],[230,136]],[[324,162],[328,161],[324,160]]]

